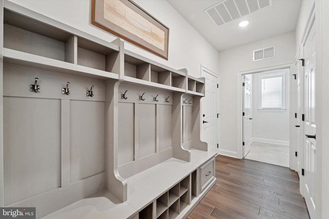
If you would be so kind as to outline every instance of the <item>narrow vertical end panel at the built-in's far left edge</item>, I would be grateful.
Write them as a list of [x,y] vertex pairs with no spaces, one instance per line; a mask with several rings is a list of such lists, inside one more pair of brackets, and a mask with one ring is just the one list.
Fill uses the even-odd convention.
[[[4,1],[0,1],[0,121],[4,121],[3,113],[3,48],[4,48]],[[0,207],[5,205],[4,199],[4,123],[0,123]]]

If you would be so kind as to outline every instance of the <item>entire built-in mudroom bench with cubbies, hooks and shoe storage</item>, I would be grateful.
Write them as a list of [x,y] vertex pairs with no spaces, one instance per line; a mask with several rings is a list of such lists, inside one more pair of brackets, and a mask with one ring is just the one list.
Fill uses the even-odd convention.
[[[2,5],[3,4],[3,5]],[[205,79],[2,1],[0,205],[185,218],[215,184]]]

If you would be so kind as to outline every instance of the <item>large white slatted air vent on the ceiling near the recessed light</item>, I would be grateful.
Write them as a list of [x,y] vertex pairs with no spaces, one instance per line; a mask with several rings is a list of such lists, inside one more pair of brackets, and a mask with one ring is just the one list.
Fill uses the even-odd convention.
[[216,26],[272,5],[272,0],[224,0],[205,12]]

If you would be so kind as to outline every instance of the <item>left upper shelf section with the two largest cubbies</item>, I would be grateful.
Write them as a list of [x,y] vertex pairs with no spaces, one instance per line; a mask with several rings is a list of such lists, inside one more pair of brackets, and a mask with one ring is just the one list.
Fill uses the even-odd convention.
[[119,46],[95,41],[95,37],[87,39],[88,34],[81,32],[78,36],[74,32],[79,31],[50,18],[49,24],[45,24],[32,16],[4,9],[4,61],[82,76],[119,79]]

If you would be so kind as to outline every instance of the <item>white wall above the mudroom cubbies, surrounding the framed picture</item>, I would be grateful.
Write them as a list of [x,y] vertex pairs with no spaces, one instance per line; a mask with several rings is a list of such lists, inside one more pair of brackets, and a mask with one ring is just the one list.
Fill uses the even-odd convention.
[[[90,0],[9,0],[111,42],[116,36],[90,23]],[[169,27],[169,60],[125,42],[126,49],[174,69],[186,68],[200,77],[200,65],[218,72],[218,52],[167,1],[135,1]]]

